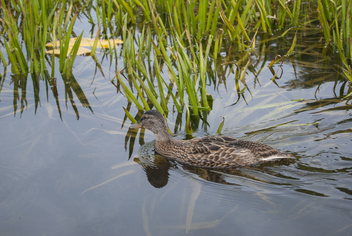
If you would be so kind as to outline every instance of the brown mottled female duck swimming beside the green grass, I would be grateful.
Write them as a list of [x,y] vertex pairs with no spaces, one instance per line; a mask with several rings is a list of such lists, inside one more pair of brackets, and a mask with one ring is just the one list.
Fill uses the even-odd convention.
[[155,135],[155,151],[197,167],[232,168],[281,159],[296,159],[269,145],[224,135],[190,140],[171,137],[164,116],[157,110],[146,111],[131,129],[146,128]]

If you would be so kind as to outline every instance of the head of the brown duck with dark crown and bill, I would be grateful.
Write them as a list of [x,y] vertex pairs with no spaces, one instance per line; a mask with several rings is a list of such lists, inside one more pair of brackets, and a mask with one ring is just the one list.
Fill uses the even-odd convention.
[[146,128],[155,135],[168,132],[168,126],[164,116],[157,110],[149,110],[143,113],[137,123],[130,126],[130,129]]

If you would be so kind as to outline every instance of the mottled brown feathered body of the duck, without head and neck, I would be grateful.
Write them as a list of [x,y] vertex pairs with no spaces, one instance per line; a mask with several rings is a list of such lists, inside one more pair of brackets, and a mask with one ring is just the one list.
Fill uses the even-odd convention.
[[223,135],[156,143],[156,151],[190,165],[209,168],[231,168],[294,158],[266,144]]

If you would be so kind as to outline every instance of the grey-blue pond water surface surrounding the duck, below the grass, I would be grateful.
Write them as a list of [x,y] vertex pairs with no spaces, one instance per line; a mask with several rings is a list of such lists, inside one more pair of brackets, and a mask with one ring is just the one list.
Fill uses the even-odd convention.
[[[1,64],[0,235],[351,235],[348,83],[319,52],[283,57],[271,80],[270,61],[289,45],[279,38],[265,47],[251,56],[257,66],[244,93],[234,66],[214,72],[210,64],[213,109],[192,121],[191,135],[185,113],[169,103],[175,139],[216,135],[224,116],[221,134],[297,158],[235,170],[166,159],[154,153],[150,131],[128,131],[122,106],[133,116],[138,109],[110,81],[115,68],[103,52],[105,77],[90,56],[77,56],[74,79],[56,71],[56,86],[29,74],[16,90],[18,75]],[[228,62],[230,46],[223,48]],[[162,73],[170,81],[166,66]]]

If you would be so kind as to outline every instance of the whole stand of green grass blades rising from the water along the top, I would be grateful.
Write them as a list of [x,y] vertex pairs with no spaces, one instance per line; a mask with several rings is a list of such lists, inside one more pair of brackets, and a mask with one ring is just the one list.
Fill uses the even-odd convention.
[[[224,81],[224,71],[235,70],[238,97],[245,99],[245,92],[251,95],[246,74],[258,75],[264,68],[265,60],[261,66],[258,64],[261,56],[268,53],[266,44],[270,39],[285,41],[284,36],[297,27],[316,27],[314,22],[321,26],[322,57],[327,61],[328,57],[338,56],[343,74],[352,83],[351,5],[347,0],[310,1],[304,5],[299,0],[97,0],[83,5],[73,0],[1,1],[0,19],[4,29],[0,32],[0,41],[6,55],[1,53],[0,58],[4,67],[10,65],[13,74],[22,74],[24,78],[28,73],[39,75],[33,77],[45,78],[52,85],[55,60],[51,56],[51,61],[46,61],[45,43],[58,40],[58,45],[54,45],[60,48],[58,69],[65,74],[63,78],[74,78],[72,68],[83,32],[78,32],[77,37],[73,26],[78,16],[86,16],[92,28],[95,20],[98,22],[96,35],[92,30],[95,42],[91,55],[101,72],[95,55],[98,38],[121,36],[124,40],[122,68],[127,72],[127,81],[120,73],[117,79],[128,101],[140,110],[155,107],[168,113],[184,110],[180,100],[189,106],[193,116],[198,116],[202,111],[211,110],[211,97],[206,89],[209,81]],[[143,25],[139,35],[136,25]],[[77,41],[67,56],[71,36],[77,37]],[[282,55],[294,59],[300,52],[305,53],[299,50],[302,45],[296,43],[298,37],[286,40],[288,47]],[[24,46],[20,44],[21,38]],[[236,49],[230,49],[233,45]],[[307,46],[307,50],[321,48],[318,40]],[[234,51],[240,51],[241,55],[235,55]],[[109,42],[108,52],[111,66],[114,57],[118,57],[114,43]],[[51,76],[47,73],[48,65]],[[119,66],[115,66],[116,71],[121,69]],[[166,73],[170,81],[164,79]],[[273,73],[274,81],[276,74]]]

